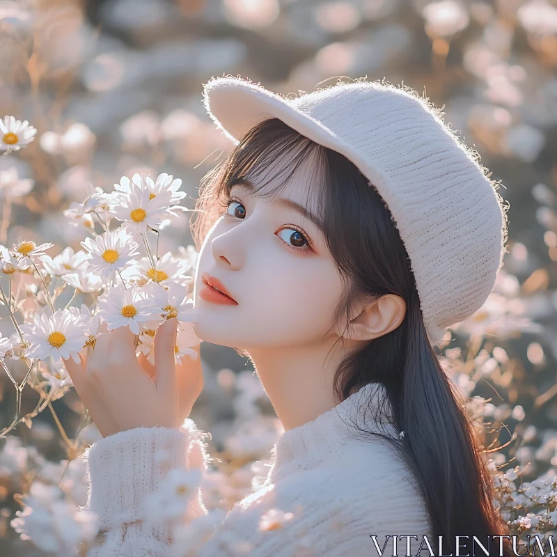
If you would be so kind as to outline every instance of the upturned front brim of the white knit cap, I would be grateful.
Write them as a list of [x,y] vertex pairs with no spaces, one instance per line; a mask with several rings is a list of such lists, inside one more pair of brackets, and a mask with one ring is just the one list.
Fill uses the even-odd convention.
[[[299,97],[296,97],[299,99]],[[295,99],[295,100],[296,100]],[[353,162],[366,175],[389,203],[389,191],[384,173],[370,166],[367,157],[337,136],[326,125],[298,109],[292,99],[281,97],[259,84],[238,77],[216,77],[203,87],[203,105],[223,134],[237,145],[254,125],[278,118],[308,139],[339,152]]]

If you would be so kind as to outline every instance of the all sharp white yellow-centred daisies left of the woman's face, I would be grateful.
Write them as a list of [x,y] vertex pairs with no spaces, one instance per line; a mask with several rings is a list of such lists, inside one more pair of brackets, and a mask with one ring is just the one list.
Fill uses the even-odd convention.
[[[33,140],[36,130],[30,131],[29,123],[6,118],[4,138],[10,143],[4,142],[4,150],[16,150]],[[36,411],[23,418],[19,418],[18,399],[16,418],[1,435],[19,421],[29,425],[38,411],[70,389],[63,358],[79,363],[88,346],[94,347],[100,335],[118,327],[130,327],[137,336],[137,353],[154,363],[157,328],[176,318],[175,361],[197,357],[194,347],[201,340],[188,322],[187,311],[193,305],[190,295],[198,254],[194,246],[180,246],[176,254],[159,254],[158,247],[159,230],[187,210],[180,205],[186,196],[181,185],[182,180],[166,173],[155,180],[135,174],[131,180],[121,178],[113,191],[97,187],[82,203],[72,203],[64,211],[65,218],[88,231],[77,252],[67,247],[52,257],[47,251],[54,244],[37,245],[30,239],[10,248],[0,245],[0,303],[8,308],[15,329],[10,337],[0,334],[0,366],[19,398],[28,378],[41,394]],[[24,362],[23,381],[10,372],[10,358]],[[46,392],[45,381],[31,374],[35,364],[40,379],[49,384]]]

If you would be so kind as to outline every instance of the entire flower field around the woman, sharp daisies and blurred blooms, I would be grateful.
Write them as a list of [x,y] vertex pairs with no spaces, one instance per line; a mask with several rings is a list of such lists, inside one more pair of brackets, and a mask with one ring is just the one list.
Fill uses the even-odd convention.
[[[292,95],[404,82],[480,152],[510,204],[508,253],[438,352],[512,533],[557,534],[557,0],[1,0],[0,47],[0,555],[77,555],[96,534],[80,455],[100,434],[60,358],[128,325],[149,358],[191,304],[191,209],[230,148],[201,103],[219,74]],[[182,326],[177,359],[195,352]],[[188,555],[283,431],[246,359],[201,357],[212,514],[178,533]],[[169,477],[153,508],[179,510],[198,480]]]

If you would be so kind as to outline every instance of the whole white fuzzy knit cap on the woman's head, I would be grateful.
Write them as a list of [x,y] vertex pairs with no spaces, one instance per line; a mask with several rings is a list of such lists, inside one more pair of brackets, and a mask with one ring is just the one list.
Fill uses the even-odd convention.
[[432,345],[483,305],[503,265],[507,207],[478,153],[427,97],[363,78],[287,97],[228,75],[204,84],[203,104],[235,145],[278,118],[359,168],[405,244]]

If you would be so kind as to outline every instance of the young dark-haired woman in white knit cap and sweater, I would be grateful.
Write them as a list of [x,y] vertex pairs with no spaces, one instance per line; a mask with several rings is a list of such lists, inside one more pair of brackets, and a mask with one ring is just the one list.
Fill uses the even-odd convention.
[[[384,82],[291,99],[218,77],[204,102],[235,147],[196,207],[191,320],[249,355],[285,433],[263,487],[198,555],[471,554],[473,536],[501,555],[485,460],[432,348],[501,267],[506,207],[487,169],[427,99]],[[165,521],[145,520],[147,496],[208,455],[184,423],[200,359],[174,366],[175,331],[157,331],[153,379],[125,329],[65,362],[104,437],[87,455],[104,532],[90,556],[176,549]],[[262,528],[273,509],[294,517]],[[184,523],[206,512],[196,493]]]

